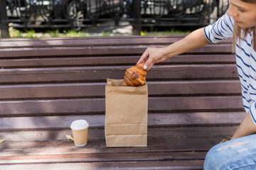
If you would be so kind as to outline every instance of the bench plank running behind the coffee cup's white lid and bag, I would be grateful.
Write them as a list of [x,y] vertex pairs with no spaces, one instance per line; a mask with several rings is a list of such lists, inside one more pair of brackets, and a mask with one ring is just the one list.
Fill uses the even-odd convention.
[[[150,113],[149,127],[177,125],[230,125],[242,122],[245,112],[212,113]],[[84,119],[90,128],[103,128],[105,115],[59,115],[0,118],[1,131],[6,130],[59,130],[70,129],[73,120]],[[26,124],[24,124],[26,122]]]

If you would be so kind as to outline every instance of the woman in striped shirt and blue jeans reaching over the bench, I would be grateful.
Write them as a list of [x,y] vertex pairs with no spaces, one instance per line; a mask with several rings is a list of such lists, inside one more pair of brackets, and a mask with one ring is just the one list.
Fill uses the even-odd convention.
[[210,149],[206,170],[256,169],[256,0],[230,0],[227,13],[216,23],[167,47],[146,49],[137,63],[145,62],[144,69],[150,69],[154,63],[229,37],[233,37],[247,115],[230,141]]

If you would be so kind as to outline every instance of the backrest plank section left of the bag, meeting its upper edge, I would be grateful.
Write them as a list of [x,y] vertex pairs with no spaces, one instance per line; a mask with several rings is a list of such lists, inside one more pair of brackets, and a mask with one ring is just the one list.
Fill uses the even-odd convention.
[[107,83],[3,85],[0,86],[0,98],[97,98],[105,96],[106,85]]

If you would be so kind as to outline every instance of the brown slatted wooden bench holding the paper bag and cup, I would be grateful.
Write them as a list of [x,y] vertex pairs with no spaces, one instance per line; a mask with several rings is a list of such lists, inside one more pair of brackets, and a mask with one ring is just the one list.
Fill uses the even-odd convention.
[[[148,147],[105,146],[106,79],[181,38],[0,40],[0,169],[203,169],[245,117],[231,40],[151,68]],[[77,119],[90,124],[85,147],[65,136]]]

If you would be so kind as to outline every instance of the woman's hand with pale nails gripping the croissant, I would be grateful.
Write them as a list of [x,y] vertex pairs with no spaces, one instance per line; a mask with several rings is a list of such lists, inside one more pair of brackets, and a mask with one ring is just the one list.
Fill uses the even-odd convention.
[[147,48],[140,57],[137,64],[144,62],[144,69],[150,69],[155,63],[166,60],[164,57],[164,48]]

